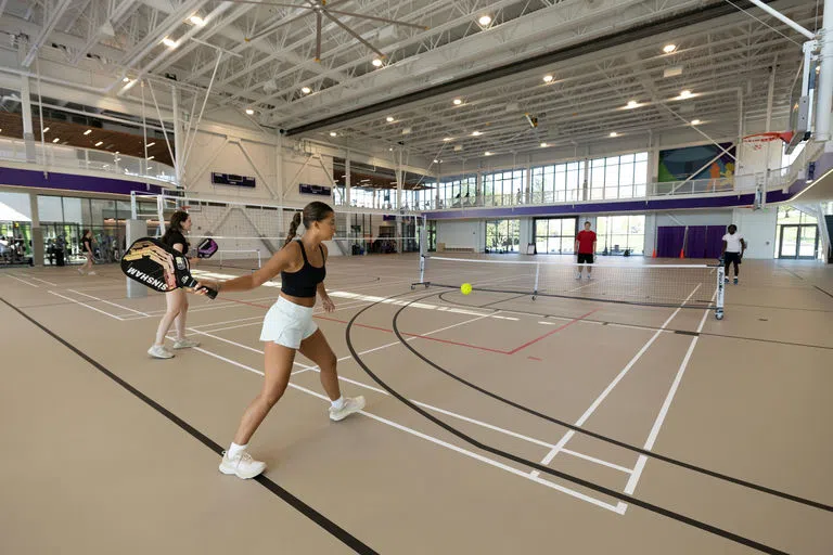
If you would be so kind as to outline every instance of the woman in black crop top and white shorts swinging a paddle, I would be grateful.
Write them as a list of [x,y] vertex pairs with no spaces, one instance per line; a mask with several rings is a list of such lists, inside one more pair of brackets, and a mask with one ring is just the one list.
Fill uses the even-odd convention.
[[222,283],[204,281],[196,287],[197,292],[201,286],[225,293],[251,291],[281,274],[281,294],[267,312],[260,332],[260,340],[266,343],[264,388],[243,413],[234,441],[220,463],[221,473],[239,478],[254,478],[266,469],[266,463],[253,460],[246,449],[257,427],[286,390],[296,351],[321,370],[321,385],[332,402],[330,420],[344,420],[364,408],[363,397],[342,396],[335,353],[312,321],[316,295],[321,297],[325,311],[335,310],[324,289],[326,247],[322,244],[335,235],[335,212],[329,205],[315,202],[304,208],[303,215],[304,236],[293,241],[302,219],[298,212],[292,220],[283,248],[260,270]]

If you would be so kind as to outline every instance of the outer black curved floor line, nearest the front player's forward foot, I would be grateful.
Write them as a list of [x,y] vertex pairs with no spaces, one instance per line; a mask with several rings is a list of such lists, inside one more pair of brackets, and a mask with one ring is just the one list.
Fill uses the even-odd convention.
[[[403,294],[402,294],[403,295]],[[394,295],[392,297],[387,297],[387,299],[400,297],[401,295]],[[380,301],[381,302],[381,301]],[[428,413],[427,411],[423,410],[422,408],[418,406],[410,400],[408,400],[405,396],[396,391],[393,387],[387,385],[382,378],[380,378],[370,367],[364,363],[364,361],[361,359],[359,353],[356,351],[356,348],[353,345],[353,339],[350,337],[350,331],[353,330],[353,325],[356,322],[356,320],[368,309],[373,308],[380,302],[374,302],[373,305],[370,305],[368,307],[364,307],[359,312],[354,315],[349,323],[347,324],[347,330],[345,332],[345,336],[347,339],[347,348],[350,350],[350,354],[354,359],[356,359],[356,362],[361,366],[361,369],[367,373],[376,384],[380,385],[380,387],[384,388],[388,393],[390,393],[393,397],[395,397],[399,402],[408,406],[409,409],[413,410],[418,414],[422,415],[426,420],[433,422],[437,426],[441,427],[446,431],[457,436],[458,438],[462,439],[466,443],[476,447],[477,449],[482,449],[483,451],[486,451],[488,453],[491,453],[494,455],[501,456],[503,459],[514,461],[516,463],[520,463],[522,465],[528,466],[530,468],[535,468],[536,470],[544,474],[549,474],[551,476],[555,476],[558,478],[561,478],[563,480],[571,481],[573,483],[577,483],[578,486],[582,486],[585,488],[588,488],[590,490],[597,491],[599,493],[603,493],[605,495],[610,495],[612,498],[615,498],[619,501],[624,501],[625,503],[629,503],[632,505],[636,505],[638,507],[644,508],[646,511],[650,511],[652,513],[655,513],[657,515],[662,515],[665,517],[668,517],[672,520],[677,520],[678,522],[682,522],[689,526],[692,526],[694,528],[699,528],[701,530],[704,530],[706,532],[713,533],[715,535],[718,535],[720,538],[725,538],[729,541],[740,543],[742,545],[746,545],[747,547],[752,547],[753,550],[760,551],[762,553],[770,553],[770,554],[777,554],[777,555],[786,555],[786,552],[783,552],[781,550],[778,550],[776,547],[772,547],[770,545],[766,545],[764,543],[757,542],[755,540],[752,540],[749,538],[745,538],[743,535],[736,534],[734,532],[730,532],[728,530],[723,530],[722,528],[718,528],[714,525],[709,525],[707,522],[703,522],[701,520],[697,520],[695,518],[692,518],[690,516],[682,515],[680,513],[676,513],[674,511],[670,511],[668,508],[661,507],[659,505],[654,505],[653,503],[650,503],[648,501],[642,501],[641,499],[635,498],[632,495],[628,495],[627,493],[621,493],[616,490],[612,490],[610,488],[605,488],[604,486],[600,486],[595,482],[586,480],[584,478],[579,478],[577,476],[573,476],[566,473],[563,473],[561,470],[556,470],[554,468],[550,468],[549,466],[544,466],[540,463],[536,463],[534,461],[529,461],[526,459],[523,459],[521,456],[517,456],[513,453],[500,450],[498,448],[495,448],[488,443],[484,443],[477,439],[474,439],[473,437],[460,431],[458,428],[451,426],[447,422],[443,421],[441,418],[438,418],[434,416],[433,414]],[[402,339],[400,339],[402,340]]]

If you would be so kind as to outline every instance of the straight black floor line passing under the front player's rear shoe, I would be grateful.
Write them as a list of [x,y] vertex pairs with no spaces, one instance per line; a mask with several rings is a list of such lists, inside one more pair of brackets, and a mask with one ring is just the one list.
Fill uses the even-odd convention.
[[[111,378],[116,384],[120,385],[123,388],[128,390],[130,393],[132,393],[137,399],[141,400],[152,409],[154,409],[156,412],[168,418],[170,422],[179,426],[182,430],[187,431],[191,437],[203,443],[205,447],[217,453],[218,455],[222,455],[222,448],[213,441],[210,438],[208,438],[205,434],[200,431],[198,429],[191,426],[188,422],[183,421],[172,412],[170,412],[168,409],[159,404],[158,402],[154,401],[143,392],[141,392],[139,389],[130,385],[128,382],[121,379],[119,376],[114,374],[112,371],[107,370],[103,364],[99,363],[98,361],[93,360],[91,357],[86,354],[84,351],[72,345],[69,341],[65,340],[63,337],[57,335],[56,333],[49,330],[47,326],[35,320],[34,318],[29,317],[27,313],[5,300],[4,298],[0,297],[0,301],[2,301],[5,306],[21,314],[23,318],[35,324],[37,327],[39,327],[41,331],[43,331],[46,334],[50,335],[53,339],[59,341],[61,345],[76,353],[81,359],[89,362],[92,366],[94,366],[97,370],[99,370],[102,374]],[[287,490],[283,489],[282,487],[278,486],[274,481],[270,480],[262,474],[258,477],[254,478],[255,481],[257,481],[260,486],[268,489],[272,493],[274,493],[277,496],[282,499],[286,504],[289,504],[291,507],[293,507],[298,513],[303,514],[313,522],[316,522],[318,526],[330,532],[333,537],[338,539],[342,543],[344,543],[346,546],[350,547],[356,553],[361,553],[362,555],[375,555],[377,552],[375,552],[373,548],[364,544],[361,540],[357,539],[349,532],[347,532],[345,529],[326,518],[324,515],[312,508],[311,506],[307,505],[302,501],[300,499],[296,498],[292,493],[290,493]]]

